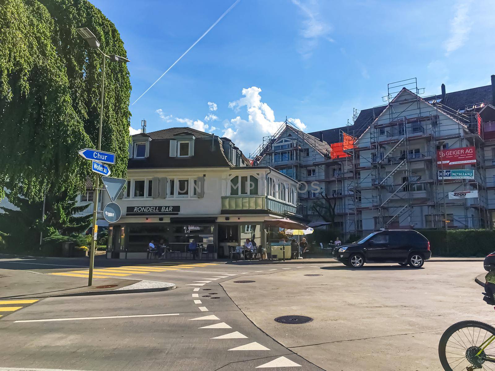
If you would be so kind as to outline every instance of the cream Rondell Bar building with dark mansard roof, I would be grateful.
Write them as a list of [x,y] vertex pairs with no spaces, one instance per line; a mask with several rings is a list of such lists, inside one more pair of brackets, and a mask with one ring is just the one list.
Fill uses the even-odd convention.
[[196,240],[226,258],[246,238],[265,244],[265,220],[297,217],[297,183],[273,168],[252,167],[228,138],[171,128],[132,139],[108,257],[146,257],[150,240],[184,256]]

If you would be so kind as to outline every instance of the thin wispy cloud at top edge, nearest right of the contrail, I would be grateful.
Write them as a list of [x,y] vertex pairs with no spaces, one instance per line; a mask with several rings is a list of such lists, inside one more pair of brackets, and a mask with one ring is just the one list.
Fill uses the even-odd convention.
[[329,42],[334,41],[329,36],[332,27],[320,19],[316,3],[309,4],[300,0],[292,0],[292,2],[297,5],[304,15],[304,20],[302,20],[303,27],[299,31],[302,40],[298,43],[297,52],[304,59],[307,59],[311,57],[313,50],[318,46],[319,39],[323,38]]

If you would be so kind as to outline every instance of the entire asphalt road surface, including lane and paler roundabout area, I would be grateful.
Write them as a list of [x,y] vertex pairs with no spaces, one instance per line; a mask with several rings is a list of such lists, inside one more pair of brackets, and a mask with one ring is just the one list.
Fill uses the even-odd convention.
[[[85,263],[0,260],[0,275],[33,290],[33,277],[42,277],[40,284],[48,279],[52,288],[62,281],[79,285],[87,279]],[[420,270],[203,263],[99,259],[101,277],[177,288],[18,304],[0,317],[8,339],[0,347],[0,370],[441,370],[437,347],[446,327],[466,319],[495,322],[474,282],[480,262],[427,262]],[[284,315],[314,320],[274,322]],[[201,328],[209,325],[217,328]]]

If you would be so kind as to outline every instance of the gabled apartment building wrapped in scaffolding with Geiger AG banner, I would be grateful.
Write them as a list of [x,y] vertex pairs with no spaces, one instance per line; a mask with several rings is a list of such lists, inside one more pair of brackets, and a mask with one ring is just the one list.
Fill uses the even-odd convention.
[[341,128],[306,134],[286,122],[252,158],[316,182],[319,192],[299,193],[299,212],[321,221],[312,204],[324,193],[345,233],[492,228],[495,75],[483,87],[422,93],[416,79],[389,84],[385,105],[356,110]]

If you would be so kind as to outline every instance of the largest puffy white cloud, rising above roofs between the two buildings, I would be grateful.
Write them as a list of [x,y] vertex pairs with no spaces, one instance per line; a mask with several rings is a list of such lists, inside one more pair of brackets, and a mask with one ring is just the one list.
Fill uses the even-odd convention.
[[[263,137],[275,134],[277,129],[284,123],[275,121],[275,114],[267,103],[261,101],[259,94],[261,89],[251,87],[242,90],[243,97],[233,102],[229,102],[229,107],[235,112],[246,107],[247,120],[237,116],[230,120],[225,126],[223,136],[232,139],[243,152],[248,155],[262,143]],[[291,118],[290,121],[300,129],[306,126],[299,120]]]

